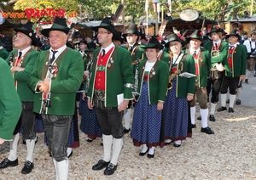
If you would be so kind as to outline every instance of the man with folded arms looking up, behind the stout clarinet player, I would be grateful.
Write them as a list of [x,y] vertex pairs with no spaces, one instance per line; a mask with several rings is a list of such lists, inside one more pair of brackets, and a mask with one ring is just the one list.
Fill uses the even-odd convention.
[[18,165],[17,149],[20,138],[20,125],[22,124],[22,138],[26,141],[26,161],[21,173],[28,174],[32,172],[34,166],[32,155],[35,147],[36,128],[34,123],[35,116],[33,114],[34,93],[28,87],[27,79],[38,57],[38,51],[31,46],[33,42],[37,41],[37,38],[32,31],[32,22],[30,21],[27,21],[20,29],[15,29],[15,32],[15,47],[17,49],[10,52],[9,57],[5,61],[10,65],[10,71],[13,73],[15,79],[15,88],[20,96],[22,113],[15,127],[9,157],[0,163],[0,168],[3,169],[8,166]]

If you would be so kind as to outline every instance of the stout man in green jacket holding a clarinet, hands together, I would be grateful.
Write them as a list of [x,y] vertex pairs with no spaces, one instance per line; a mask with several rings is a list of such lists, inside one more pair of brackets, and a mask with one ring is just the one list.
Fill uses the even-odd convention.
[[84,61],[81,54],[67,48],[66,20],[55,18],[42,34],[49,37],[51,48],[38,55],[29,87],[34,90],[34,112],[42,114],[49,152],[53,157],[56,179],[68,175],[67,141],[75,110],[75,95],[79,90]]

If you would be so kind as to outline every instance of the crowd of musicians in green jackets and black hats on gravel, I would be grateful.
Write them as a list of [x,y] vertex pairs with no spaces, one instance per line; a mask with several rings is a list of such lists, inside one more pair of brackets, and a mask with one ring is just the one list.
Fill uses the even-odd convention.
[[104,175],[116,171],[125,133],[142,146],[139,155],[151,159],[158,146],[180,147],[196,127],[196,103],[201,132],[214,134],[207,121],[218,120],[219,94],[217,111],[234,113],[234,104],[241,104],[241,82],[248,83],[255,66],[256,32],[251,39],[246,32],[241,38],[238,30],[224,37],[218,25],[185,39],[171,32],[146,38],[136,24],[122,34],[110,17],[92,27],[96,39],[79,31],[70,37],[62,18],[41,31],[42,39],[30,21],[14,31],[15,50],[8,52],[0,43],[5,87],[0,91],[0,143],[9,141],[9,156],[0,168],[18,166],[21,133],[27,153],[21,173],[32,172],[37,132],[44,131],[60,180],[68,177],[79,129],[89,143],[102,138],[103,155],[92,170],[104,169]]

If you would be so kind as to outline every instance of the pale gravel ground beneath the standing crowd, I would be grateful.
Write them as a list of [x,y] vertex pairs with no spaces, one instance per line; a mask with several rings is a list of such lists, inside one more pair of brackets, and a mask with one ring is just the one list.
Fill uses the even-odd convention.
[[[70,158],[69,179],[256,179],[256,111],[255,108],[237,105],[235,111],[216,112],[217,121],[208,122],[214,135],[200,132],[201,121],[196,121],[193,138],[183,141],[180,148],[173,147],[173,144],[156,148],[154,159],[139,156],[141,148],[133,146],[130,134],[125,134],[119,166],[112,176],[104,176],[103,170],[91,170],[91,166],[102,158],[101,139],[87,143],[86,136],[80,132],[80,147],[73,149]],[[44,144],[44,133],[38,133],[35,167],[28,175],[20,172],[26,160],[26,145],[21,142],[20,137],[19,166],[0,170],[0,180],[55,179],[55,169]],[[4,143],[0,146],[0,160],[8,155],[9,143]]]

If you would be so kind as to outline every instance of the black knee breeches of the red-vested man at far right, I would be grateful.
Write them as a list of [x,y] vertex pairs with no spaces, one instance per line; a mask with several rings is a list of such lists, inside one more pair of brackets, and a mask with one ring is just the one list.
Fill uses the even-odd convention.
[[228,93],[228,88],[230,89],[230,94],[236,95],[236,88],[238,87],[240,77],[224,77],[223,86],[220,93]]

